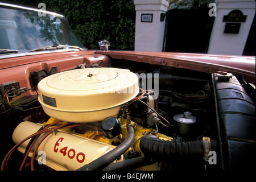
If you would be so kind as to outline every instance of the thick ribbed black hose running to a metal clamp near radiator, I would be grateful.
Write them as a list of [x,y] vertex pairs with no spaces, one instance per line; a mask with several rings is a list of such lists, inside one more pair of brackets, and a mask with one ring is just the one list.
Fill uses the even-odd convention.
[[[212,148],[216,142],[212,142]],[[139,147],[145,156],[154,159],[167,159],[170,156],[204,156],[203,140],[195,141],[169,141],[160,140],[155,135],[145,135],[141,138]]]

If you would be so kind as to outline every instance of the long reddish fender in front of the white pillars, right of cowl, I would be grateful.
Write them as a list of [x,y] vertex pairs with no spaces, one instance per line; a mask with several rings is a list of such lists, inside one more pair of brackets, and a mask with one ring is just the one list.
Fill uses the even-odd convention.
[[134,51],[96,51],[96,53],[108,55],[114,59],[167,65],[207,73],[231,72],[234,75],[241,74],[248,82],[255,84],[255,57],[253,56]]

